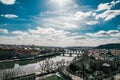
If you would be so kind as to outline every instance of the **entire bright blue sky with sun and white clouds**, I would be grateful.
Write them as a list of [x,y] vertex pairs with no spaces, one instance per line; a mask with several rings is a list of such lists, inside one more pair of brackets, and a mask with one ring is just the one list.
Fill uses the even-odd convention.
[[0,44],[120,43],[120,0],[0,0]]

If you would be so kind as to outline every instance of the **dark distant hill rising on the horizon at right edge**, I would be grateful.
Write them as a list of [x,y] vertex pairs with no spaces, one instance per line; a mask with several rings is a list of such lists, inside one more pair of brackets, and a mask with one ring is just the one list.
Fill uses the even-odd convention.
[[120,43],[111,43],[95,47],[95,49],[120,49]]

